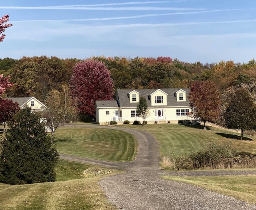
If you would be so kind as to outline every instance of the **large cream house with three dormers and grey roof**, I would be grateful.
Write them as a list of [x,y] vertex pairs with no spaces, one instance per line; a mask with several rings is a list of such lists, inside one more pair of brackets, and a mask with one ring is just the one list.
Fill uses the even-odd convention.
[[125,120],[131,123],[134,120],[142,122],[143,119],[136,113],[140,97],[145,97],[148,103],[148,123],[196,120],[190,116],[189,92],[189,88],[118,89],[116,100],[96,101],[96,123],[108,124],[110,121],[116,121],[120,124]]

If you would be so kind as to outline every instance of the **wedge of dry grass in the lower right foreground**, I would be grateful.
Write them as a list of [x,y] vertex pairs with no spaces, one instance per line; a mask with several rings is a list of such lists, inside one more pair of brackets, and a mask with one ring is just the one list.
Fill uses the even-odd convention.
[[256,175],[164,176],[163,178],[193,184],[219,194],[256,204]]

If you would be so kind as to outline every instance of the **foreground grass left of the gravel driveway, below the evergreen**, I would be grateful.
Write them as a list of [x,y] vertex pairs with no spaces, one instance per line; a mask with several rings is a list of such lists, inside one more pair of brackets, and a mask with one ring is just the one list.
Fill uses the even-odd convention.
[[[26,185],[0,184],[0,209],[4,210],[114,210],[97,182],[103,175],[84,178],[90,165],[59,160],[57,180]],[[60,181],[62,180],[62,181]]]

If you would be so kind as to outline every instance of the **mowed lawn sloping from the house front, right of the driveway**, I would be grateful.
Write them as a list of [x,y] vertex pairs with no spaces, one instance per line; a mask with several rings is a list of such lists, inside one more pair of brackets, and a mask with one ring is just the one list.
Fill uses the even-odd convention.
[[252,141],[241,141],[240,133],[234,133],[223,129],[210,127],[204,130],[200,126],[178,124],[149,124],[149,125],[120,125],[124,127],[141,129],[152,133],[156,137],[160,147],[160,155],[171,157],[172,155],[190,155],[197,152],[208,143],[226,144],[229,141],[232,147],[240,153],[256,154],[256,138],[246,136]]

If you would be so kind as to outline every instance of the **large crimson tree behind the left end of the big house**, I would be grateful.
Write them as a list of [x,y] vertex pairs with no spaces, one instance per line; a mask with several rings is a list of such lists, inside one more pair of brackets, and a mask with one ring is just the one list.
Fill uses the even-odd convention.
[[80,114],[95,116],[96,100],[113,99],[110,71],[102,61],[88,59],[78,62],[73,68],[70,90]]

